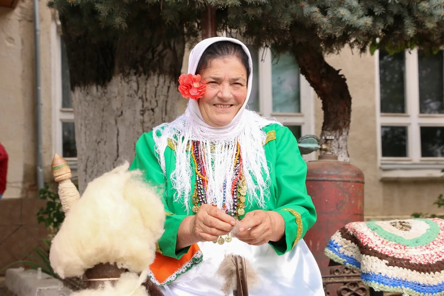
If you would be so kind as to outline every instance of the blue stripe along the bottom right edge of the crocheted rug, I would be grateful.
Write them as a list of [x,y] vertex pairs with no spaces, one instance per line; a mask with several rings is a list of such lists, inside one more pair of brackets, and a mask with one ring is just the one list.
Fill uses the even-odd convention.
[[375,282],[376,284],[384,284],[393,288],[410,288],[413,291],[426,295],[442,293],[444,291],[444,282],[440,282],[435,285],[423,284],[417,281],[403,280],[397,277],[389,277],[387,275],[374,272],[361,273],[361,279],[370,285],[372,282]]

